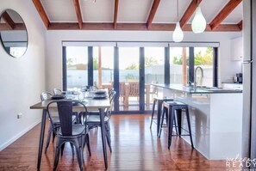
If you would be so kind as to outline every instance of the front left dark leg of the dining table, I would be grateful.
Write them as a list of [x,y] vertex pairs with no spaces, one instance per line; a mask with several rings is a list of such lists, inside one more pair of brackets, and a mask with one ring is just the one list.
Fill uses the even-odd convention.
[[40,165],[41,165],[41,153],[42,153],[42,148],[43,148],[43,143],[44,143],[46,119],[47,119],[47,110],[43,110],[42,116],[41,116],[41,132],[40,132],[38,158],[37,158],[37,169],[38,170],[40,169]]

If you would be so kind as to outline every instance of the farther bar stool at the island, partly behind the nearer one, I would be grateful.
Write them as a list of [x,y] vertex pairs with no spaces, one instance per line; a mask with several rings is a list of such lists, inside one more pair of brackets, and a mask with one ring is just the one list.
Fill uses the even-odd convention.
[[[160,125],[160,119],[161,119],[161,113],[162,113],[162,104],[164,101],[173,101],[172,98],[163,98],[163,97],[155,97],[153,98],[153,109],[152,109],[152,115],[151,115],[151,123],[150,123],[150,129],[152,127],[153,120],[157,120],[157,135],[159,135],[159,125]],[[157,103],[158,109],[157,109],[157,117],[154,117],[155,113],[155,105]]]

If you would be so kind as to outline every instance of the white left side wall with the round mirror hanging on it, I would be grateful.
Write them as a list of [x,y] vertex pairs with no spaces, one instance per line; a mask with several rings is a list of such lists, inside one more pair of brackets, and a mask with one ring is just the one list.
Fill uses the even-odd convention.
[[[0,46],[0,150],[41,121],[41,111],[29,107],[40,101],[46,87],[45,33],[31,0],[1,0],[0,13],[14,9],[28,29],[28,50],[21,58],[10,57]],[[17,119],[17,114],[22,118]]]

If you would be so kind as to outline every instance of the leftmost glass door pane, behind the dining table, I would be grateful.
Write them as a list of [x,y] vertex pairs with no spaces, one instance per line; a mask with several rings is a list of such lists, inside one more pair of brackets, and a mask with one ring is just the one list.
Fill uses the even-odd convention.
[[66,46],[66,88],[77,90],[88,84],[87,47]]

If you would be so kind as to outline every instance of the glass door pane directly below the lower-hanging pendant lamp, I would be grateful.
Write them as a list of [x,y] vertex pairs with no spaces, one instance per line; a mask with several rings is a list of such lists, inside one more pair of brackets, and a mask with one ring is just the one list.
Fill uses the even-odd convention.
[[188,80],[189,48],[170,47],[170,82],[186,85]]

